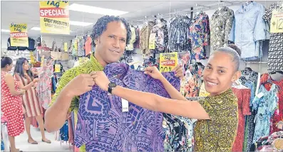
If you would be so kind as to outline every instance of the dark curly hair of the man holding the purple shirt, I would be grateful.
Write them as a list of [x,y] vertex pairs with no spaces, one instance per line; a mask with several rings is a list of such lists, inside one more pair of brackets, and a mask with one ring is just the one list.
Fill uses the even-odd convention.
[[127,21],[125,21],[125,18],[120,18],[119,16],[103,16],[101,18],[98,18],[98,21],[96,21],[96,24],[93,26],[93,31],[91,34],[91,38],[93,39],[93,46],[96,46],[94,40],[96,40],[99,36],[101,36],[103,31],[106,31],[108,23],[113,21],[121,21],[124,24],[127,30],[126,44],[129,43],[131,31],[130,31],[130,25]]

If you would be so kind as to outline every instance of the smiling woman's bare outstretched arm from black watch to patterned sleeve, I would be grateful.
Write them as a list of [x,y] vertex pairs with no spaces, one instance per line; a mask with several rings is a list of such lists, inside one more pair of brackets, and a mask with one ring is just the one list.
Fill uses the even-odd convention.
[[198,102],[168,99],[157,94],[135,91],[120,86],[113,89],[113,94],[155,112],[164,112],[194,119],[210,119],[210,116]]

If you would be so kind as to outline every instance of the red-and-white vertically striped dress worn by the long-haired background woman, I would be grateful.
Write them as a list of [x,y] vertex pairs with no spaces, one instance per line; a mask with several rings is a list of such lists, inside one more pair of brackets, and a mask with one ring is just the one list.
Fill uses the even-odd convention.
[[[31,77],[27,75],[20,77],[18,74],[15,74],[14,77],[17,81],[23,82],[24,86],[31,83]],[[38,96],[36,95],[36,89],[34,89],[34,87],[26,90],[26,93],[21,98],[24,102],[24,108],[26,109],[26,116],[31,117],[43,114],[43,109],[39,103]]]

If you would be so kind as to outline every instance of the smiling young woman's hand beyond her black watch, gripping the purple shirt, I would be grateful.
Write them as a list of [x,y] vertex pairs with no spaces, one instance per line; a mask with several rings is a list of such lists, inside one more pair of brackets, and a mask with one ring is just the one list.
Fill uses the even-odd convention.
[[96,82],[96,85],[103,89],[104,91],[108,90],[108,85],[110,81],[108,80],[108,77],[106,77],[106,74],[103,71],[93,72],[93,79],[94,82]]

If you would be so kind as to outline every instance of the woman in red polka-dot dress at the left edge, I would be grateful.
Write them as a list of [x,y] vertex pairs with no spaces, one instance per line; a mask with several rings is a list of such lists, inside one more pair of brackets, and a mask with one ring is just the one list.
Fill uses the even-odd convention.
[[9,74],[13,67],[13,60],[9,57],[1,58],[1,109],[8,119],[7,129],[10,141],[10,150],[19,151],[15,145],[15,136],[24,133],[24,113],[21,104],[21,95],[24,89],[19,89],[18,82]]

